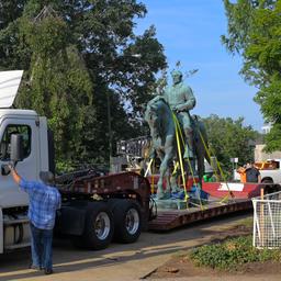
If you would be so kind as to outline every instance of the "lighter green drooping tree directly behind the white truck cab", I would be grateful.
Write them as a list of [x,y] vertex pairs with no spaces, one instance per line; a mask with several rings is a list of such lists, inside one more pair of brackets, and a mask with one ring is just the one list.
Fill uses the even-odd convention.
[[[20,34],[32,53],[27,87],[18,99],[20,108],[36,109],[48,117],[55,132],[57,160],[72,161],[86,155],[80,135],[92,109],[92,82],[65,21],[44,7],[30,21],[32,3],[20,22]],[[32,7],[33,8],[33,7]],[[77,106],[79,104],[79,106]]]

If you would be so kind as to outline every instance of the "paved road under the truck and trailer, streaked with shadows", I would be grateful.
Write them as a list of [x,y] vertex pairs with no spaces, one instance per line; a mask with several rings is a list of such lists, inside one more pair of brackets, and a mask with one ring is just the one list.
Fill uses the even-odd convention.
[[[24,250],[0,257],[0,281],[139,280],[164,265],[171,255],[209,241],[243,218],[245,215],[198,223],[169,233],[143,233],[135,244],[112,244],[101,251],[81,250],[72,247],[68,240],[55,240],[55,274],[44,276],[42,272],[26,269],[30,255]],[[190,280],[210,280],[210,278]]]

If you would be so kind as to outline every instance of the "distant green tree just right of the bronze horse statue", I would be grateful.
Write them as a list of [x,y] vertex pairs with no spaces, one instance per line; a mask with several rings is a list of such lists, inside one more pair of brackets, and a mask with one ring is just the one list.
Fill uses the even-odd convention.
[[232,170],[231,158],[238,157],[244,165],[254,160],[254,140],[258,132],[243,125],[244,119],[218,117],[211,115],[204,119],[207,131],[210,151],[222,164],[224,171]]

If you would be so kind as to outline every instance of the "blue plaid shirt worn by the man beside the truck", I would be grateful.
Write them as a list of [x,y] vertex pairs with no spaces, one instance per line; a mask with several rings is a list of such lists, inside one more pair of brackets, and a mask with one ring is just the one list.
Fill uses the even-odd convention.
[[56,188],[38,181],[21,179],[20,187],[29,194],[29,218],[41,229],[53,229],[56,210],[60,207],[60,194]]

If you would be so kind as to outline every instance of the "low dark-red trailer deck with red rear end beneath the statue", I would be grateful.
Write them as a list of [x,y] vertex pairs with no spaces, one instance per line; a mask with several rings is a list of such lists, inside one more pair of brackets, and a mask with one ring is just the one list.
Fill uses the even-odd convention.
[[149,222],[149,231],[170,231],[221,215],[252,210],[251,198],[281,190],[279,184],[240,183],[240,182],[203,182],[202,190],[210,195],[207,202],[194,206],[187,203],[181,210],[158,210],[157,217]]

